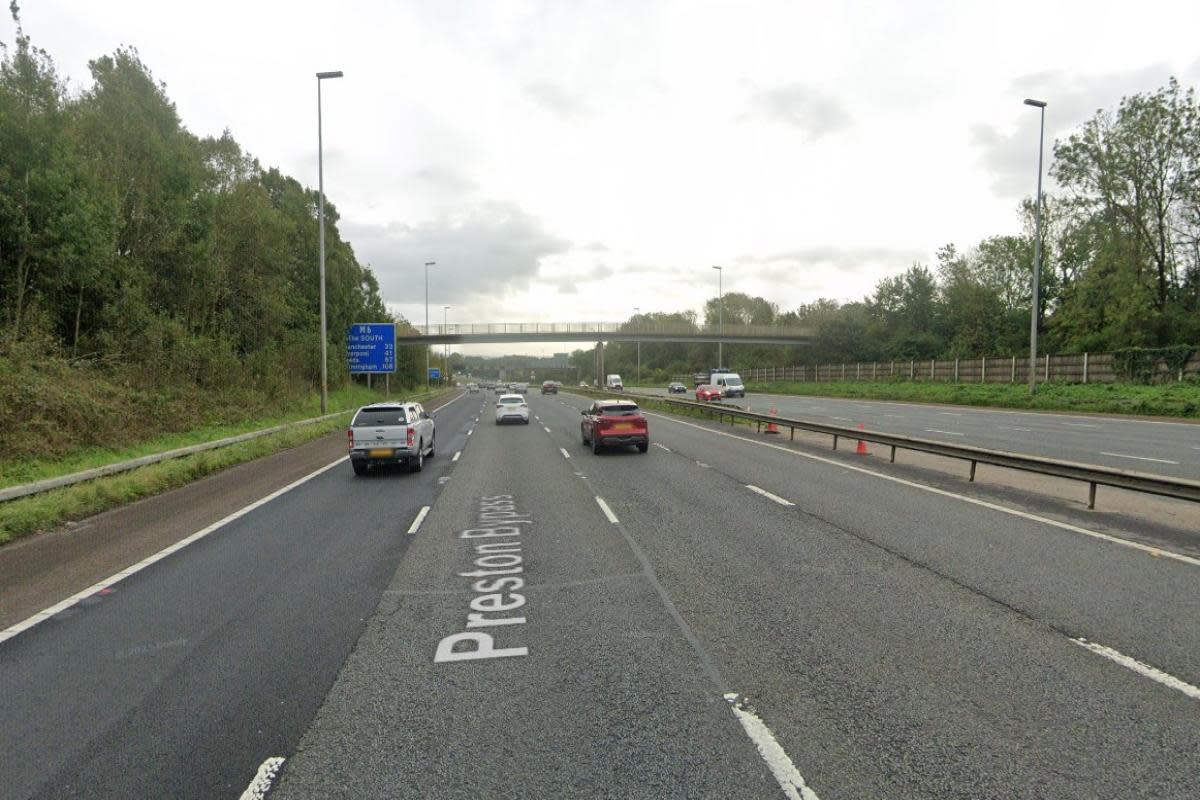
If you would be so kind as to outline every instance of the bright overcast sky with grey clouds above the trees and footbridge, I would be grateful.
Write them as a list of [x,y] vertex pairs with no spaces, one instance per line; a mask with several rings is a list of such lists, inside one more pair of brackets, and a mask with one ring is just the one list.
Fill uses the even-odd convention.
[[22,6],[76,88],[132,44],[193,133],[229,128],[313,186],[313,73],[343,70],[326,192],[418,324],[427,260],[438,323],[443,305],[460,323],[698,312],[713,264],[782,309],[857,300],[943,243],[1019,230],[1022,98],[1049,102],[1049,143],[1169,76],[1200,83],[1200,4],[1180,0]]

